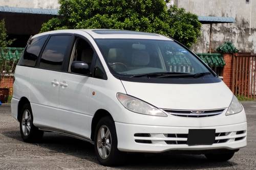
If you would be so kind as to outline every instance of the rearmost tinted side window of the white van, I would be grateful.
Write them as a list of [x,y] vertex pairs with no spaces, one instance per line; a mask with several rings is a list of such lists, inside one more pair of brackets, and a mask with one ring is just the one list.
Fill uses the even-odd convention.
[[31,39],[20,58],[18,65],[35,66],[38,55],[48,36],[39,36]]

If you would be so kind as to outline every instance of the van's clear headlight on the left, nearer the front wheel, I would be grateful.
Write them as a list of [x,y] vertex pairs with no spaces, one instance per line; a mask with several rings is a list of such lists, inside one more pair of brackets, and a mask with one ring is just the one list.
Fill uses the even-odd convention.
[[116,94],[118,101],[128,110],[140,114],[147,114],[147,115],[153,115],[153,116],[164,116],[167,115],[159,110],[158,108],[143,102],[139,99],[136,99],[130,95],[126,95],[123,93],[117,93]]

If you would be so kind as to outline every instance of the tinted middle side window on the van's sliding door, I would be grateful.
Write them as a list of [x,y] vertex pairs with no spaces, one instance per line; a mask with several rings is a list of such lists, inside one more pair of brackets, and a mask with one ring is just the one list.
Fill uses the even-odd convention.
[[51,70],[61,70],[62,62],[67,50],[69,50],[68,46],[71,43],[71,40],[71,35],[52,36],[42,53],[39,67]]

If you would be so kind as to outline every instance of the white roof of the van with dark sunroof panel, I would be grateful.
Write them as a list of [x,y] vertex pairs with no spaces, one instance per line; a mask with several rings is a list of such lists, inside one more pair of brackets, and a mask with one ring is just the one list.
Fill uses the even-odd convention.
[[47,34],[58,34],[58,33],[76,33],[76,34],[90,34],[95,39],[154,39],[154,40],[171,40],[171,38],[168,38],[163,35],[155,34],[155,33],[144,33],[144,32],[138,32],[138,31],[126,31],[126,30],[111,30],[111,29],[78,29],[78,30],[55,30],[55,31],[49,31],[45,33],[37,34],[34,37],[41,36],[41,35],[47,35]]

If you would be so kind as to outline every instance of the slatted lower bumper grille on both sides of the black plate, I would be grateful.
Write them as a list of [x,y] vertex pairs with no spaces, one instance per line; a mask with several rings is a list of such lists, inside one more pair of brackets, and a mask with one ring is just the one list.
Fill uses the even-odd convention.
[[[187,133],[135,133],[137,143],[145,144],[187,144]],[[202,136],[203,137],[203,136]],[[215,144],[242,140],[246,137],[246,131],[217,132]]]

